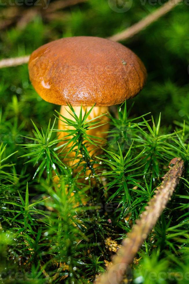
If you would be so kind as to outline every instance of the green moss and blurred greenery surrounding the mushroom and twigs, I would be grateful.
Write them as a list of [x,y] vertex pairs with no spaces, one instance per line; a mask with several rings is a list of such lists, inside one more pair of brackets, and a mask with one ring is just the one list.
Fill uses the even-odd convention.
[[[61,37],[109,37],[160,6],[133,1],[127,12],[118,13],[109,3],[88,0],[48,17],[42,9],[23,26],[19,21],[35,5],[0,6],[0,21],[5,22],[12,19],[8,9],[19,9],[14,21],[0,31],[0,57],[30,54]],[[76,117],[64,119],[75,129],[73,148],[80,145],[84,151],[78,163],[85,161],[90,169],[100,163],[95,178],[85,177],[86,167],[81,167],[85,182],[59,159],[57,120],[54,125],[49,121],[54,121],[59,106],[36,94],[27,65],[0,69],[2,283],[13,283],[11,276],[5,279],[8,270],[15,283],[93,282],[116,251],[109,248],[107,238],[120,245],[175,156],[185,161],[185,177],[131,267],[135,284],[188,283],[188,22],[185,1],[122,42],[142,59],[148,80],[127,108],[123,104],[110,109],[111,130],[102,155],[89,161],[87,148],[80,143],[84,134],[91,142],[86,127],[92,124],[79,125]]]

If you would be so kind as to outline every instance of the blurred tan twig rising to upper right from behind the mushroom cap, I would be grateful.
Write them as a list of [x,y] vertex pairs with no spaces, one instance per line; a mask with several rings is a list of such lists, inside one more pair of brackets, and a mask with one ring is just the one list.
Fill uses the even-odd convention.
[[114,34],[112,37],[109,37],[109,39],[111,39],[112,41],[122,41],[128,39],[129,37],[133,37],[135,34],[148,27],[151,23],[164,16],[166,13],[176,7],[181,1],[182,0],[169,0],[161,8],[155,10],[138,23],[118,34]]

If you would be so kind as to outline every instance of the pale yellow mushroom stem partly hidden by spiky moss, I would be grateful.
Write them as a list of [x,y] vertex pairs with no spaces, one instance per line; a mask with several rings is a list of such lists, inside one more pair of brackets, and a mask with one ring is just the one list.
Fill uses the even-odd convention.
[[[81,107],[80,106],[74,106],[73,108],[74,108],[76,115],[79,116]],[[84,116],[85,111],[88,112],[90,109],[91,109],[91,107],[89,107],[89,106],[82,106],[82,116]],[[73,120],[73,116],[71,116],[70,112],[71,112],[71,110],[70,110],[69,106],[64,106],[64,105],[61,106],[61,108],[60,108],[60,120],[58,121],[58,129],[59,130],[74,130],[75,129],[73,126],[63,125],[63,122],[61,121],[61,116],[64,116],[68,119]],[[102,114],[106,114],[107,112],[108,112],[107,106],[102,106],[102,107],[101,106],[94,106],[91,113],[87,117],[87,121],[94,119],[95,117],[98,117]],[[108,116],[106,116],[106,115],[101,116],[100,118],[93,120],[93,122],[94,121],[99,122],[99,125],[100,124],[101,125],[97,128],[87,130],[87,134],[92,135],[92,136],[96,136],[99,141],[100,141],[100,139],[101,140],[106,139],[107,131],[109,130],[109,118],[108,118]],[[59,134],[59,138],[62,139],[66,135],[68,135],[69,133],[68,132],[59,132],[58,134]],[[71,139],[72,136],[70,135],[68,138]],[[83,141],[83,143],[85,143],[85,141]],[[69,148],[70,146],[71,146],[71,143],[67,145],[67,148]],[[97,149],[97,147],[95,145],[92,145],[92,144],[87,145],[87,150],[88,150],[91,157],[93,156],[93,154],[99,154],[100,153],[100,148]],[[71,151],[71,153],[69,153],[69,155],[67,157],[68,158],[66,159],[66,162],[70,166],[72,166],[72,165],[74,165],[78,162],[78,159],[74,159],[75,151]]]

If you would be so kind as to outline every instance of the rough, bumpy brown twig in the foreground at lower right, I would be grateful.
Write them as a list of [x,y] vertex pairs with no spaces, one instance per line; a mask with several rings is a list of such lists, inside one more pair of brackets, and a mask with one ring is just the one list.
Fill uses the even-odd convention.
[[135,254],[156,224],[179,183],[180,177],[184,172],[184,161],[181,158],[175,158],[170,162],[169,168],[170,170],[163,177],[162,184],[148,202],[141,218],[136,221],[132,231],[123,240],[122,247],[118,250],[118,255],[113,258],[112,265],[107,268],[106,273],[96,279],[96,284],[122,283],[124,279],[123,272],[128,271],[129,264],[133,262]]

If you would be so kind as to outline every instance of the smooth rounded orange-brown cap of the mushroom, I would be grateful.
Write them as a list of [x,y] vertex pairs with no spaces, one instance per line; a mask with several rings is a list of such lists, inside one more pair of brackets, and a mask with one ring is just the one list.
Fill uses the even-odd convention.
[[36,92],[58,105],[109,106],[142,90],[146,69],[129,48],[99,37],[69,37],[35,50],[29,74]]

